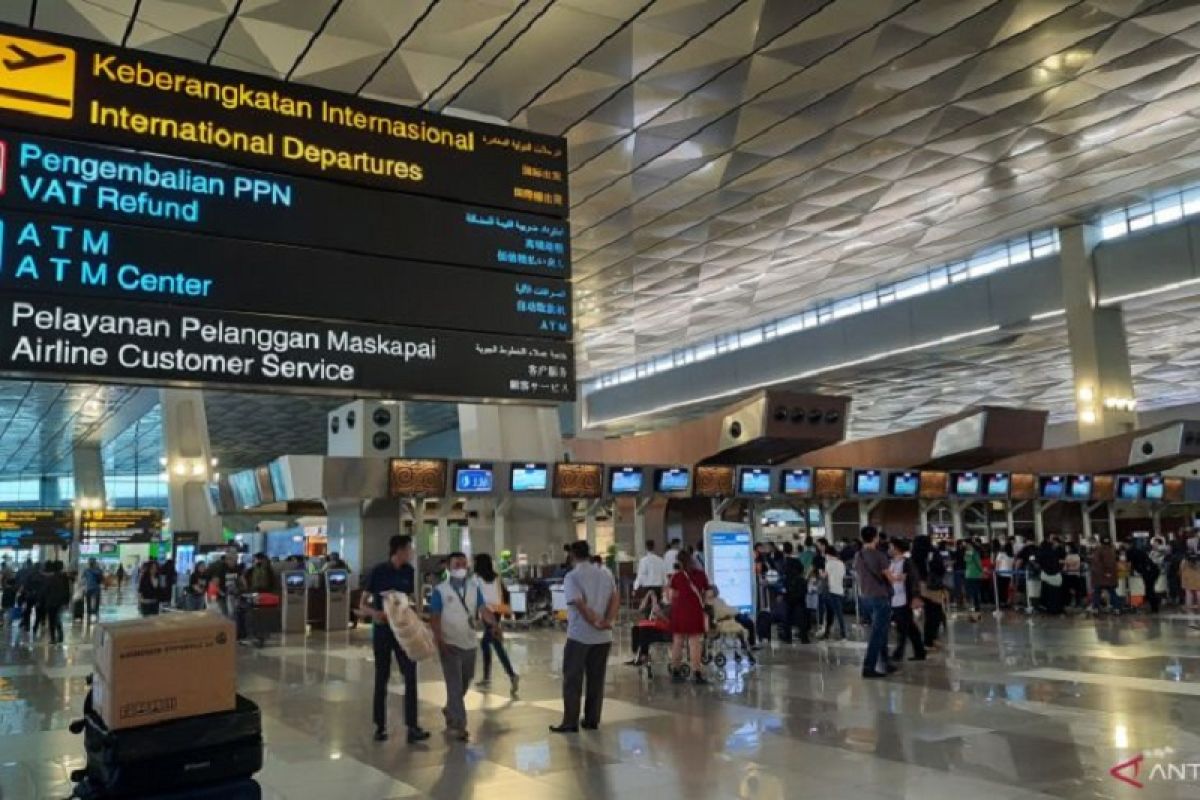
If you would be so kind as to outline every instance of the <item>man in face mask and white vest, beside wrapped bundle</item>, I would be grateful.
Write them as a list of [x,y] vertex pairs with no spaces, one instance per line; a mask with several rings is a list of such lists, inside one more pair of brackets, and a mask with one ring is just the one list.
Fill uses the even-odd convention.
[[[487,608],[487,600],[479,581],[468,578],[467,555],[451,553],[449,577],[433,588],[430,596],[430,625],[442,655],[442,675],[446,681],[446,734],[467,741],[467,706],[463,698],[475,680],[475,631],[484,625],[496,626],[496,615]],[[493,633],[494,634],[494,633]]]

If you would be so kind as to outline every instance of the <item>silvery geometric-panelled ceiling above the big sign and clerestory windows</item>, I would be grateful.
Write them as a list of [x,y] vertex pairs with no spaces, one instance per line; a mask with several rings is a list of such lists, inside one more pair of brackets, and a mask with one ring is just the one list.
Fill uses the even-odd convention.
[[587,378],[1200,170],[1189,0],[5,0],[570,144]]

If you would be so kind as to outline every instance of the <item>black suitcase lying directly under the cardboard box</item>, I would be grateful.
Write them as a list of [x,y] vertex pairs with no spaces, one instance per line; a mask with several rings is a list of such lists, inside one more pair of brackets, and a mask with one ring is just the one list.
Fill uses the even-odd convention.
[[109,730],[84,699],[86,766],[72,775],[94,798],[149,798],[229,783],[263,769],[263,724],[258,706],[238,696],[233,711]]

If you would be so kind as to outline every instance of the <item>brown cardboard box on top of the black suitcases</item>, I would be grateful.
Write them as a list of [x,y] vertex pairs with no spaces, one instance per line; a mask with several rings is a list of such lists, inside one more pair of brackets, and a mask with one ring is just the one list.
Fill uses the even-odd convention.
[[101,625],[91,687],[96,712],[121,729],[233,710],[236,639],[234,624],[209,612]]

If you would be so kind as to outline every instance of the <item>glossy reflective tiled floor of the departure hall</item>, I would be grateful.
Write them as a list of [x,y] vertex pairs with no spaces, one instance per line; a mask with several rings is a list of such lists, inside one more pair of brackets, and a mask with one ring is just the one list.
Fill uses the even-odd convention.
[[[80,633],[53,650],[6,633],[0,798],[70,793],[82,748],[66,727],[90,660]],[[932,661],[874,682],[858,676],[859,642],[778,645],[709,687],[647,680],[614,651],[601,729],[568,738],[546,730],[562,640],[509,637],[521,697],[503,679],[473,692],[466,746],[371,740],[365,631],[244,650],[241,691],[266,726],[264,796],[1200,798],[1200,775],[1148,780],[1156,762],[1200,762],[1200,630],[1183,616],[958,620]],[[437,730],[438,672],[424,666],[421,680],[421,720]],[[398,720],[398,679],[392,691]],[[1141,790],[1109,775],[1138,754]]]

